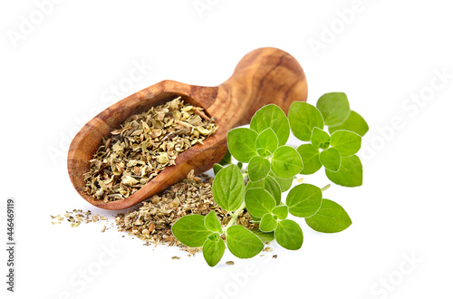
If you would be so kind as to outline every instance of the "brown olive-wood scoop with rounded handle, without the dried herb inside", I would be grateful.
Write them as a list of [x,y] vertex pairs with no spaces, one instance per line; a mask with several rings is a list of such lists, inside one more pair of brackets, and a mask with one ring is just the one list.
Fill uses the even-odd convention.
[[[95,199],[85,190],[83,174],[90,170],[90,159],[102,137],[120,127],[130,115],[149,111],[153,106],[181,96],[216,118],[217,131],[202,144],[179,154],[176,165],[163,169],[129,198],[110,202]],[[233,75],[217,87],[162,81],[118,101],[85,124],[74,137],[68,153],[68,172],[72,185],[93,206],[118,210],[131,207],[187,177],[191,169],[200,174],[211,169],[226,153],[226,133],[250,122],[255,111],[275,103],[285,113],[293,101],[306,101],[307,83],[299,63],[288,53],[261,48],[237,64]]]

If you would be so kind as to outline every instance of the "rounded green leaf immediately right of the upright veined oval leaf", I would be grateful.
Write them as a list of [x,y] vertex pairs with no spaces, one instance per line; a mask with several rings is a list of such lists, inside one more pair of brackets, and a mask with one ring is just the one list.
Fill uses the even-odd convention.
[[275,199],[263,188],[249,188],[246,190],[247,211],[255,217],[263,217],[271,213],[276,206]]

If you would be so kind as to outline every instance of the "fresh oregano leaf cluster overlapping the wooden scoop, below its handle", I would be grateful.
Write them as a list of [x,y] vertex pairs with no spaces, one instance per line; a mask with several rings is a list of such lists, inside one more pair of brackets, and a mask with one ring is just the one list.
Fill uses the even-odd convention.
[[284,111],[276,105],[267,105],[256,111],[250,129],[228,132],[228,149],[235,159],[249,163],[247,174],[252,181],[266,178],[271,171],[277,178],[293,178],[304,164],[294,148],[284,145],[289,134]]

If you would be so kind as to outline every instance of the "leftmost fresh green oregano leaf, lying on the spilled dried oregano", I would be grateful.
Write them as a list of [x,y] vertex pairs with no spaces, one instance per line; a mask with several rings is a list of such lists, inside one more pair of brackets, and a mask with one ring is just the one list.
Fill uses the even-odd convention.
[[189,247],[200,247],[212,232],[205,227],[205,217],[193,214],[178,219],[171,227],[173,236]]

